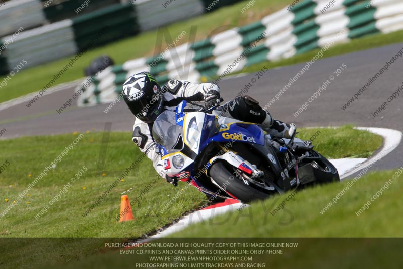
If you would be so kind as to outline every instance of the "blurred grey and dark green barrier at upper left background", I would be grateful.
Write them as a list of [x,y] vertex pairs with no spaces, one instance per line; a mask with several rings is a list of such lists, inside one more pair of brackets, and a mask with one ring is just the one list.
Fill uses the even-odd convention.
[[[6,35],[20,28],[24,30],[24,34],[13,39],[10,45],[7,42],[7,48],[0,48],[0,75],[10,72],[14,63],[19,63],[22,59],[27,60],[28,65],[24,67],[27,68],[74,55],[88,46],[104,27],[108,27],[108,30],[102,36],[97,36],[93,46],[104,45],[207,12],[206,1],[175,0],[170,3],[168,0],[167,3],[160,0],[5,2],[0,6],[0,36],[4,36],[0,41],[6,43],[10,39]],[[221,4],[214,8],[231,4],[224,0],[219,3]],[[17,25],[20,28],[17,29]]]

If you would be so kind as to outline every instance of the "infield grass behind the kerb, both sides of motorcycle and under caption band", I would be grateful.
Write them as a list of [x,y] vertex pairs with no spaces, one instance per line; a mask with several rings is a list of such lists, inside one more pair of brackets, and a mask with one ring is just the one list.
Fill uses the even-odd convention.
[[[379,139],[378,136],[348,126],[341,128],[340,132],[338,129],[330,129],[327,133],[327,129],[320,129],[321,133],[318,134],[317,131],[301,129],[300,136],[310,138],[316,134],[314,144],[320,145],[320,152],[332,158],[339,157],[340,153],[334,151],[332,140],[328,137],[331,135],[345,136],[339,139],[345,139],[346,154],[350,156],[359,154],[359,149],[362,152],[372,152],[376,150],[372,146],[381,144],[374,142]],[[0,175],[0,213],[4,213],[28,184],[40,176],[45,167],[60,156],[65,147],[69,147],[78,136],[79,134],[65,134],[0,141],[3,156],[7,156],[2,162],[8,163]],[[108,143],[105,143],[106,140]],[[92,239],[91,244],[77,240],[66,242],[54,239],[54,245],[44,244],[40,240],[23,240],[22,243],[1,248],[9,254],[0,253],[3,257],[3,263],[0,265],[18,267],[23,265],[26,259],[30,260],[32,266],[40,264],[44,258],[51,260],[50,250],[60,244],[64,248],[58,250],[58,258],[54,259],[56,263],[85,256],[102,249],[105,242],[102,238],[141,237],[203,204],[204,195],[195,188],[187,188],[180,199],[169,206],[169,210],[161,211],[160,209],[171,202],[172,197],[185,185],[180,184],[178,188],[174,188],[165,183],[164,179],[157,178],[151,162],[145,158],[144,162],[129,171],[122,181],[118,181],[117,186],[100,200],[99,205],[94,206],[85,215],[86,210],[109,189],[110,184],[119,179],[133,161],[138,160],[139,156],[141,153],[132,145],[130,133],[110,133],[109,138],[104,137],[103,133],[84,133],[81,140],[62,156],[56,167],[38,181],[21,202],[12,207],[4,217],[0,215],[0,239],[95,239]],[[83,166],[88,170],[77,178],[76,174]],[[74,183],[71,178],[75,178]],[[69,183],[71,186],[62,191]],[[130,190],[126,194],[131,201],[138,199],[132,206],[135,221],[118,223],[115,218],[119,213],[120,196],[127,190]],[[50,204],[55,197],[58,197],[57,201]],[[46,205],[49,208],[44,212]],[[37,217],[41,210],[43,213]],[[30,251],[32,249],[37,251]],[[63,252],[64,249],[70,249],[71,252],[67,255]],[[26,259],[17,259],[17,256],[25,256]]]

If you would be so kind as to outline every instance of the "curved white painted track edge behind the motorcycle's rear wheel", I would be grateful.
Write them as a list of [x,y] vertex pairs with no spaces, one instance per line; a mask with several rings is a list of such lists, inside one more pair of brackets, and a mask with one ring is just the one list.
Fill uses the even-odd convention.
[[372,127],[357,127],[358,130],[368,131],[383,137],[383,147],[382,150],[379,151],[376,155],[368,158],[364,163],[360,164],[358,167],[355,167],[348,171],[343,177],[340,179],[345,179],[354,173],[357,173],[361,169],[364,169],[366,166],[376,163],[378,160],[392,152],[401,142],[403,134],[400,131],[386,129],[386,128],[372,128]]

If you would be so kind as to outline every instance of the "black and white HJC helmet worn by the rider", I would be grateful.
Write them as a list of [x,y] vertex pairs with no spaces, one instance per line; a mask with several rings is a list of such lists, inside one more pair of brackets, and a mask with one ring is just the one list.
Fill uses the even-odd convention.
[[131,113],[143,122],[154,122],[164,111],[160,84],[148,72],[129,77],[123,84],[122,93]]

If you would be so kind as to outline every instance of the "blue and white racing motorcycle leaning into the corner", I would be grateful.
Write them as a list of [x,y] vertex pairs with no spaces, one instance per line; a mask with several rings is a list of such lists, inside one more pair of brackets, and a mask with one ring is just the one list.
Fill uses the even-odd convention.
[[248,203],[340,180],[311,141],[271,137],[257,124],[221,116],[217,107],[206,110],[183,100],[154,122],[156,151],[175,183]]

